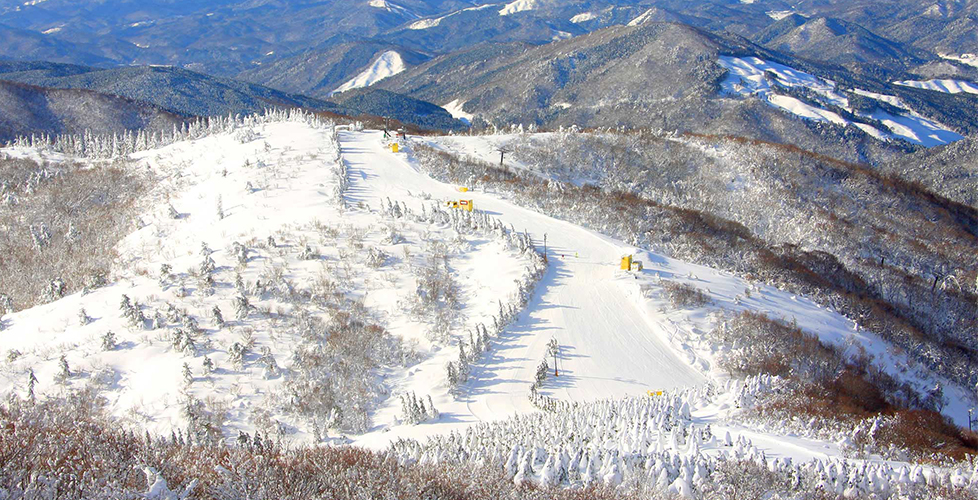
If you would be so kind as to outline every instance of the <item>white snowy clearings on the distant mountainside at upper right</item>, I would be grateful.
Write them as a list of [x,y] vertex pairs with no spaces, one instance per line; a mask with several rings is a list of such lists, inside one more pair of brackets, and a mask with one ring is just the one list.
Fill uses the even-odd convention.
[[[826,109],[825,107],[835,106],[853,112],[849,106],[849,99],[836,89],[835,82],[831,80],[818,78],[783,64],[765,61],[757,57],[720,56],[720,65],[728,70],[727,77],[720,84],[724,93],[757,96],[771,106],[804,119],[841,126],[852,125],[880,140],[899,138],[926,147],[939,146],[964,138],[946,126],[921,116],[893,96],[855,90],[857,94],[887,102],[906,111],[906,113],[898,115],[881,109],[876,109],[871,113],[855,113],[874,124],[879,124],[885,128],[884,131],[874,124],[852,121],[831,109]],[[814,93],[814,100],[818,105],[778,93],[781,88],[811,91]],[[899,104],[894,104],[894,102],[899,102]]]

